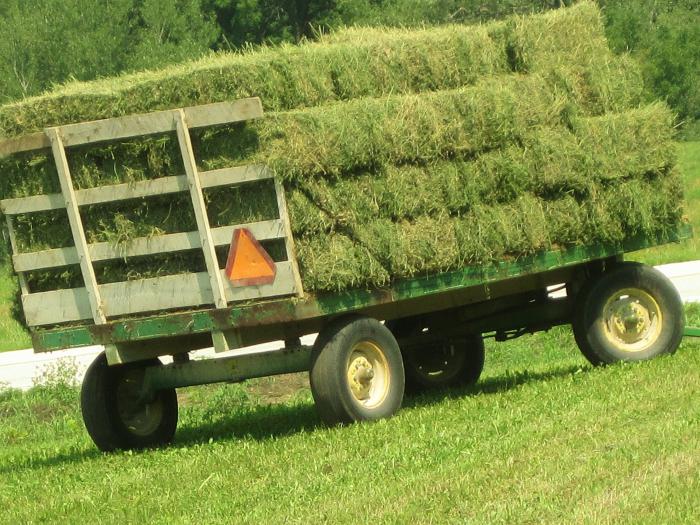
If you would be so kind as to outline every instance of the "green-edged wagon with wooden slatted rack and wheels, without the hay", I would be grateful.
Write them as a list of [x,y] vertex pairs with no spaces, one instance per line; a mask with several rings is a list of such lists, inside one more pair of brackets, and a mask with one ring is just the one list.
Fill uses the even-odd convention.
[[[3,200],[12,262],[36,352],[104,345],[87,371],[82,412],[102,450],[169,442],[177,424],[176,389],[309,371],[322,419],[374,420],[393,414],[404,390],[475,382],[484,337],[498,341],[572,324],[595,365],[673,352],[683,333],[679,296],[661,274],[623,262],[625,252],[678,241],[638,237],[615,245],[541,252],[458,271],[395,280],[382,289],[305,293],[294,253],[285,194],[265,166],[215,171],[197,167],[190,130],[262,116],[259,99],[220,103],[48,128],[0,143],[0,156],[50,150],[60,193]],[[76,189],[71,148],[174,132],[184,175]],[[203,190],[267,181],[278,217],[212,227]],[[272,182],[272,184],[270,184]],[[261,190],[262,191],[262,190]],[[189,194],[196,231],[90,243],[85,206]],[[65,210],[73,246],[23,252],[14,221],[22,214]],[[277,240],[273,260],[262,243]],[[227,250],[225,268],[219,252]],[[206,272],[98,283],[104,261],[199,250]],[[26,272],[79,265],[84,286],[33,292]],[[563,283],[563,284],[562,284]],[[553,297],[552,287],[566,289]],[[300,337],[318,332],[313,347]],[[240,352],[284,341],[278,351]],[[190,359],[213,346],[225,357]],[[172,356],[163,364],[162,356]]]

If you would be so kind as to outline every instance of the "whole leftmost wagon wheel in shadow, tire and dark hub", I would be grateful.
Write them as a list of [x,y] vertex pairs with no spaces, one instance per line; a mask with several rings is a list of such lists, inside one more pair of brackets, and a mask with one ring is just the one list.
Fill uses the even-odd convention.
[[170,443],[177,427],[175,389],[143,397],[145,368],[157,359],[109,366],[104,352],[88,368],[80,394],[85,428],[104,452]]

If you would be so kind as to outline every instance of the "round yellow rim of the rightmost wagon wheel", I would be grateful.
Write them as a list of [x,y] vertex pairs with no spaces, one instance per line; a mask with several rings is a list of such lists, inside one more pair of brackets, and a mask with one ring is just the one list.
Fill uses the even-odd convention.
[[605,336],[623,352],[643,352],[659,338],[662,326],[659,303],[639,288],[616,292],[603,308]]

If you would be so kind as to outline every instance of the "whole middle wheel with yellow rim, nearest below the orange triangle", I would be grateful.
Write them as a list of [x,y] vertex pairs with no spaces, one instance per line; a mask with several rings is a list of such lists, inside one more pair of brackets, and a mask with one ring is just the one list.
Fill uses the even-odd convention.
[[311,359],[311,392],[328,424],[392,416],[404,392],[396,339],[376,319],[348,317],[319,334]]

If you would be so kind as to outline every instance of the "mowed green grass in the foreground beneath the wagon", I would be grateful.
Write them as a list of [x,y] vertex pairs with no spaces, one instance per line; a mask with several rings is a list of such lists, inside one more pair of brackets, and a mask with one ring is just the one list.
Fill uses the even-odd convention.
[[599,369],[564,328],[490,343],[476,387],[344,428],[307,389],[188,389],[175,443],[141,453],[98,453],[75,388],[6,392],[0,522],[698,523],[698,341]]

